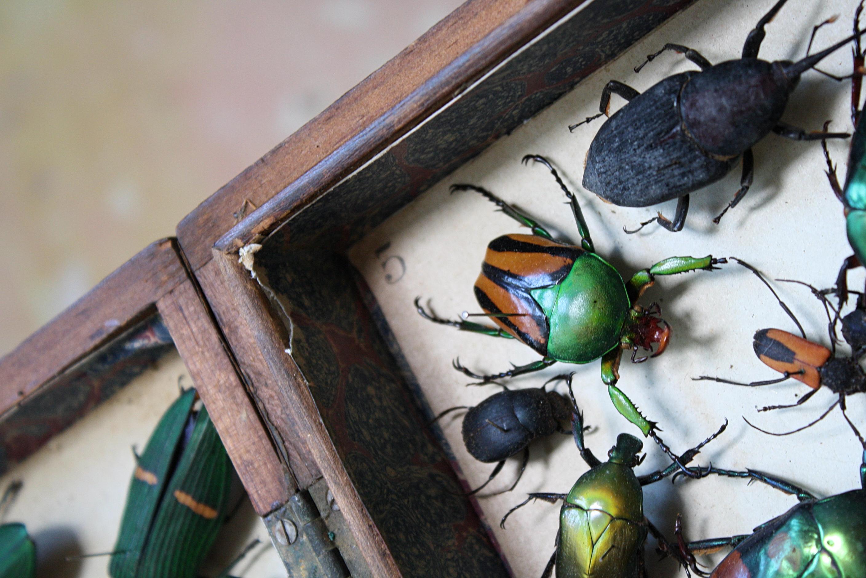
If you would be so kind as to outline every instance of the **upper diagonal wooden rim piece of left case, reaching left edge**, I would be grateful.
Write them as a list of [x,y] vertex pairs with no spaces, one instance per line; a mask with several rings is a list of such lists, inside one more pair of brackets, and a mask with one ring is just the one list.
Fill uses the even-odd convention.
[[118,268],[0,359],[0,414],[14,408],[83,356],[154,312],[187,279],[176,240],[163,239]]

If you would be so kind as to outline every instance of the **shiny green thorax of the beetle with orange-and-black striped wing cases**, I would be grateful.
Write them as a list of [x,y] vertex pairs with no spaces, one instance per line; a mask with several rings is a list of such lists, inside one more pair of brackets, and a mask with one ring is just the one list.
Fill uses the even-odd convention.
[[589,363],[619,347],[631,302],[622,276],[598,254],[581,255],[564,280],[530,294],[550,322],[548,356]]

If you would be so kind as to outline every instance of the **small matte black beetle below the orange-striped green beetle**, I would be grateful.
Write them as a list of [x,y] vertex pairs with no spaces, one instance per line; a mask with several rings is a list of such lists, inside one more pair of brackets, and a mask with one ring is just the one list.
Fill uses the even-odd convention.
[[501,392],[491,395],[474,407],[456,406],[436,416],[434,421],[456,409],[469,409],[463,418],[462,427],[466,450],[478,461],[487,464],[499,462],[488,480],[470,491],[469,495],[488,485],[490,480],[501,472],[505,460],[523,450],[520,473],[514,484],[497,493],[514,490],[527,468],[529,444],[532,440],[556,432],[571,435],[570,430],[559,425],[560,421],[571,420],[572,409],[568,401],[555,391],[546,391],[545,387],[513,390],[503,385]]

